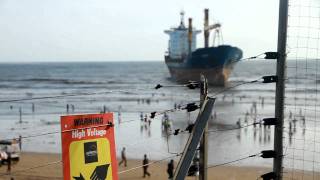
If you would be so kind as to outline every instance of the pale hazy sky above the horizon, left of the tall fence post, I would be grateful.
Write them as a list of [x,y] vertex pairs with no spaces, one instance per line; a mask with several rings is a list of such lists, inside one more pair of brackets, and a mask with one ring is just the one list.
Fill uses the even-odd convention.
[[278,0],[0,0],[0,62],[163,60],[163,30],[204,8],[244,57],[276,50]]

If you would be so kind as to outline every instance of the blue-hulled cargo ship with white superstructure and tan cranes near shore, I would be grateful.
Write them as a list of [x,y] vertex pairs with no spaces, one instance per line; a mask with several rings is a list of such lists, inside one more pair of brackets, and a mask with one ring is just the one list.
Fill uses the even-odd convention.
[[[180,25],[164,32],[169,35],[169,47],[165,54],[165,63],[171,78],[179,83],[199,81],[203,74],[210,85],[225,86],[235,65],[242,58],[242,50],[221,43],[219,23],[209,25],[209,10],[205,9],[204,47],[197,48],[197,35],[201,30],[192,27],[189,18],[188,27],[184,24],[184,12],[181,12]],[[214,31],[213,45],[209,46],[210,32]]]

